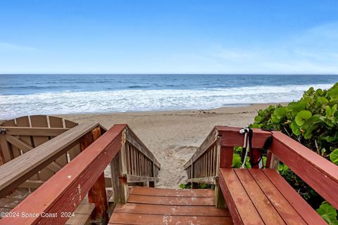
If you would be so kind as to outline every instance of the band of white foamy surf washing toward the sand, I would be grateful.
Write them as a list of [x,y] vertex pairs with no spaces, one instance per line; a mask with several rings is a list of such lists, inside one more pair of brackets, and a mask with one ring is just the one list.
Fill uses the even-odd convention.
[[36,114],[113,113],[151,110],[211,109],[225,105],[295,101],[310,86],[333,84],[241,86],[213,89],[123,89],[58,91],[0,95],[0,119]]

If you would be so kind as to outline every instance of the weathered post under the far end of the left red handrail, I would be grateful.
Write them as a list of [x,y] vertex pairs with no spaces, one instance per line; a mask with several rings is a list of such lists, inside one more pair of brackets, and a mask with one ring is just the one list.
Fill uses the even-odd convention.
[[127,174],[127,165],[125,162],[125,141],[126,134],[125,131],[123,131],[120,152],[111,161],[111,181],[113,186],[114,204],[127,203],[127,198],[129,196],[127,177],[125,177],[125,174]]

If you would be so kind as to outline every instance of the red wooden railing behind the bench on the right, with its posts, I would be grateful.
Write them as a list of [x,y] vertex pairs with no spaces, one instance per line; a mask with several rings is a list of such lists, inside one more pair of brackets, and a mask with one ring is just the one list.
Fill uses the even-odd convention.
[[[192,156],[192,159],[184,166],[184,169],[187,169],[188,176],[194,162],[203,157],[203,154],[208,150],[209,147],[206,146],[214,139],[211,139],[211,136],[215,137],[215,135],[218,136],[217,145],[220,149],[218,168],[231,168],[234,153],[233,147],[242,146],[244,141],[244,135],[239,134],[239,129],[239,127],[216,126],[199,150]],[[268,151],[267,167],[276,168],[277,163],[275,162],[278,162],[278,160],[284,162],[306,184],[323,196],[327,202],[338,208],[337,165],[334,165],[289,136],[282,134],[280,131],[269,132],[253,129],[253,149],[262,148],[268,136],[273,136],[273,143]],[[218,195],[220,193],[215,191],[215,194]]]

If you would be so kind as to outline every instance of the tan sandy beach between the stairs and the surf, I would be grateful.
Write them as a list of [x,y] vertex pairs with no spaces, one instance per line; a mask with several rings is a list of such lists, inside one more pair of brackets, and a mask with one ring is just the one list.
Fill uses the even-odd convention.
[[187,174],[182,170],[196,148],[215,125],[243,127],[253,122],[256,110],[270,104],[225,107],[213,110],[182,110],[142,113],[62,115],[75,122],[99,122],[109,129],[113,124],[129,124],[161,163],[158,187],[178,188]]

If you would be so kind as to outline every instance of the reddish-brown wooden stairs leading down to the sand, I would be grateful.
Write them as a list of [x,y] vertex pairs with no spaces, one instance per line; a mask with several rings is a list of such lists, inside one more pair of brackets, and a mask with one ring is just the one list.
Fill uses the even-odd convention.
[[212,189],[133,187],[129,194],[109,224],[232,224],[229,211],[215,207]]

